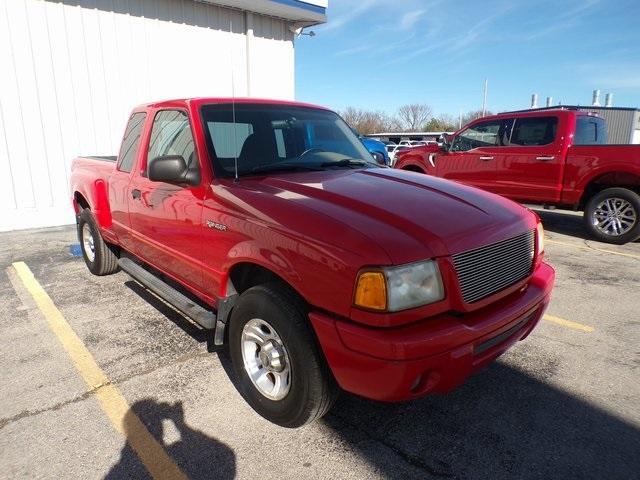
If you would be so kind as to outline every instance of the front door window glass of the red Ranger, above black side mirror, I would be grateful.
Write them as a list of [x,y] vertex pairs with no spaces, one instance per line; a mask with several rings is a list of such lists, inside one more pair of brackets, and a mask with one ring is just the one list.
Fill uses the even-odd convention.
[[153,120],[147,165],[166,155],[181,155],[190,169],[198,168],[189,117],[181,110],[162,110]]

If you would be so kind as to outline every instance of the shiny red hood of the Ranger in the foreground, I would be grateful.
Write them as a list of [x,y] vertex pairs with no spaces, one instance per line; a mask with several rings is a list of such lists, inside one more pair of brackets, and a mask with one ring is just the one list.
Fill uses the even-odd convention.
[[[358,251],[362,242],[350,243],[364,236],[393,264],[470,250],[536,224],[535,214],[510,200],[395,169],[284,173],[242,179],[232,188],[258,194],[256,209],[267,218],[276,216],[279,226],[294,223],[289,226],[292,233],[313,238],[318,224],[329,217],[328,223],[340,224],[342,232],[328,225],[323,241]],[[283,217],[281,210],[290,215]]]

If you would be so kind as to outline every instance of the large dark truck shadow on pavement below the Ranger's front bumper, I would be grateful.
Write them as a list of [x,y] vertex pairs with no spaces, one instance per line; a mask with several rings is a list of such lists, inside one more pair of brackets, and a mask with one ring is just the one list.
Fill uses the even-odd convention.
[[423,478],[613,480],[640,472],[640,429],[503,363],[448,395],[404,404],[342,395],[323,421],[388,478],[398,478],[397,462],[363,437]]

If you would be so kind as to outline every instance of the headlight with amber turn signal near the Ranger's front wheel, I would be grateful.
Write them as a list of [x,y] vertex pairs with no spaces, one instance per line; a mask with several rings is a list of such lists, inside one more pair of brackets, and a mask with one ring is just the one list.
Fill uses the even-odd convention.
[[438,264],[427,260],[362,272],[356,282],[354,303],[370,310],[397,312],[443,298]]

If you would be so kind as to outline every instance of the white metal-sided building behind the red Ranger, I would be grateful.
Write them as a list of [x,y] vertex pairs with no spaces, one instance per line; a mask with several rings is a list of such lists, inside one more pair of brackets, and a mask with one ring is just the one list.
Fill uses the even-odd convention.
[[[70,163],[118,150],[130,109],[294,97],[294,31],[327,0],[0,1],[0,231],[73,222]],[[233,74],[232,74],[233,72]]]

